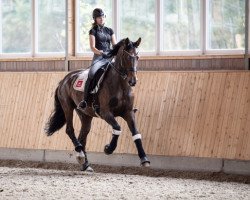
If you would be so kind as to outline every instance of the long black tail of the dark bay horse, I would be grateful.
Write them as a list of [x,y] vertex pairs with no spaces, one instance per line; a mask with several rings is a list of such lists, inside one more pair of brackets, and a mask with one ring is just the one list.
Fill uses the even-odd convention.
[[66,122],[62,105],[57,96],[57,91],[58,88],[55,91],[54,111],[51,113],[49,120],[45,126],[45,133],[47,134],[47,136],[53,135],[53,133],[61,129]]

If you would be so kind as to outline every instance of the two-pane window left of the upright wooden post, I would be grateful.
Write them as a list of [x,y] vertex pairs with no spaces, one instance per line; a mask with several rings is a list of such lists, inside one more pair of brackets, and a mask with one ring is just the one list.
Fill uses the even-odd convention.
[[1,0],[0,4],[0,53],[65,52],[65,1]]

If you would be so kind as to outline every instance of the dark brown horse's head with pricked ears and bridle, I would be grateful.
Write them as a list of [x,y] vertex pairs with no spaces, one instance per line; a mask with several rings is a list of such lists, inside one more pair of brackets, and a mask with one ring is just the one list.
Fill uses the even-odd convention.
[[123,40],[123,46],[119,49],[117,57],[120,59],[122,70],[126,74],[128,84],[135,86],[137,81],[137,65],[138,65],[138,52],[136,48],[140,45],[141,38],[136,42],[130,41],[128,38]]

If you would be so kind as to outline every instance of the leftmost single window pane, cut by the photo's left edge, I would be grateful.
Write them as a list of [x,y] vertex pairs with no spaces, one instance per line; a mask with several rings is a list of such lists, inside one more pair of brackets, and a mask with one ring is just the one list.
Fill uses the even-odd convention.
[[31,0],[1,0],[0,52],[31,52]]

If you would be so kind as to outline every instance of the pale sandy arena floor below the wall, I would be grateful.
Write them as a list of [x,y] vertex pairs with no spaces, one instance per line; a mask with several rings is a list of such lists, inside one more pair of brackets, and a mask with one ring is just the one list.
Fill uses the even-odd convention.
[[250,177],[0,161],[0,199],[250,199]]

